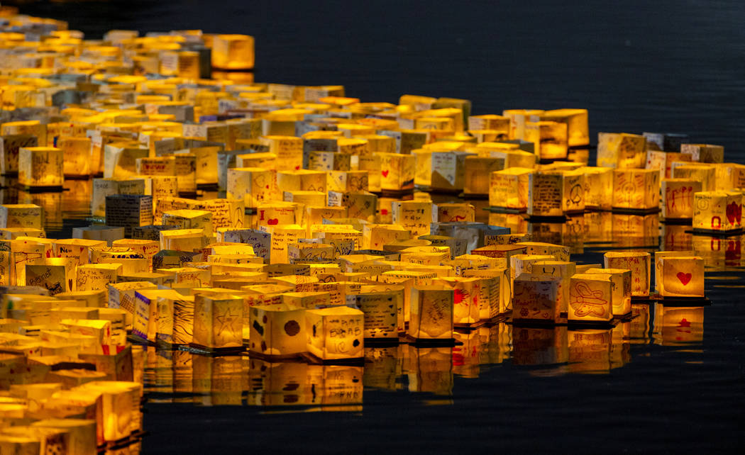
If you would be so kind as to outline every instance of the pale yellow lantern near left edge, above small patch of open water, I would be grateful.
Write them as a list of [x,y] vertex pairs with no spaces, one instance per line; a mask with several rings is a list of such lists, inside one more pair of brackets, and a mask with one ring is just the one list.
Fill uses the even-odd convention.
[[28,188],[62,188],[63,151],[56,147],[22,147],[18,182]]

